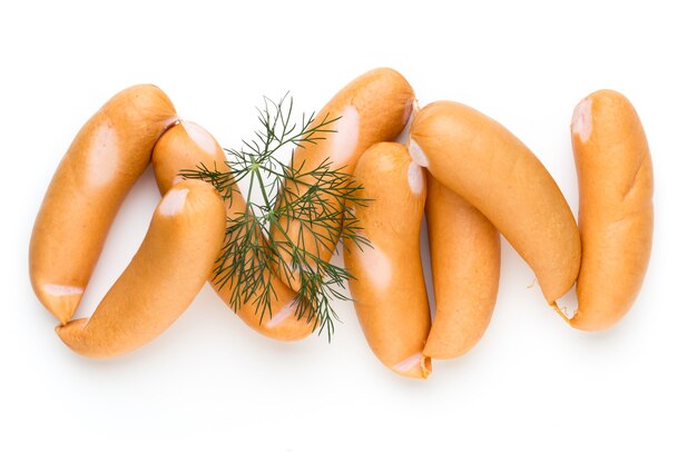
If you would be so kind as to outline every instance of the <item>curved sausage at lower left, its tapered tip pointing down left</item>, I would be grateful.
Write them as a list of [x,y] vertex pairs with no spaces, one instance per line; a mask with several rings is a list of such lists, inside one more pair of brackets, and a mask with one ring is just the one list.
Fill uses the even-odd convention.
[[161,334],[186,310],[210,274],[225,234],[225,205],[200,180],[160,200],[140,248],[91,318],[56,332],[90,357],[122,355]]

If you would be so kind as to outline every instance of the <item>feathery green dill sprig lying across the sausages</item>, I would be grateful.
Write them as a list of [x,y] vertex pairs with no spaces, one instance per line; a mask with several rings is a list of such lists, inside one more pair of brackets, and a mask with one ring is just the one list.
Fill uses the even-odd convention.
[[[343,290],[353,276],[322,259],[321,250],[333,249],[340,239],[359,248],[370,245],[360,234],[354,209],[367,200],[359,195],[362,186],[343,166],[334,167],[328,156],[316,167],[294,162],[295,148],[324,140],[326,134],[335,132],[332,125],[338,118],[326,115],[315,120],[313,112],[294,122],[293,99],[287,93],[278,102],[265,97],[257,112],[261,129],[249,141],[243,140],[242,148],[225,150],[228,169],[199,165],[181,171],[185,178],[210,182],[228,205],[235,198],[242,200],[237,182],[248,179],[246,208],[228,217],[213,284],[230,288],[229,304],[235,310],[252,303],[261,323],[267,314],[272,316],[277,299],[274,273],[286,284],[300,282],[295,317],[313,324],[320,334],[326,329],[331,340],[334,322],[340,320],[332,300],[348,299]],[[279,160],[284,148],[293,150],[288,165]],[[261,200],[254,200],[253,192],[261,194]],[[297,229],[293,237],[285,231],[291,221]],[[274,238],[272,229],[282,231],[282,238]]]

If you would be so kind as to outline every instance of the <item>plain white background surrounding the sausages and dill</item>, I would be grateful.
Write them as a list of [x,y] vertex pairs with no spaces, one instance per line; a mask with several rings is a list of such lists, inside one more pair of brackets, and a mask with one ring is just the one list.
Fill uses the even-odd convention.
[[[696,462],[697,16],[668,1],[244,3],[2,2],[0,462]],[[459,100],[500,120],[573,210],[576,102],[599,88],[632,100],[654,156],[656,231],[621,324],[567,327],[504,244],[489,330],[426,382],[384,368],[348,304],[331,345],[281,344],[209,288],[130,355],[91,361],[61,344],[29,286],[28,241],[60,157],[104,101],[157,83],[234,147],[263,95],[291,90],[312,110],[379,66],[422,105]],[[126,267],[158,198],[148,170],[78,316]]]

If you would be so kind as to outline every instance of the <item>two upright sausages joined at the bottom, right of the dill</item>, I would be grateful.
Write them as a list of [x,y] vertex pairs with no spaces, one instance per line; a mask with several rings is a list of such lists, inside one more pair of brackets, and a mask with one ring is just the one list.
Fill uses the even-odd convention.
[[[425,378],[432,357],[463,354],[487,328],[498,292],[499,234],[400,144],[371,147],[355,177],[370,199],[355,209],[370,246],[347,243],[344,253],[359,320],[383,364]],[[424,207],[439,305],[432,326],[419,249]]]

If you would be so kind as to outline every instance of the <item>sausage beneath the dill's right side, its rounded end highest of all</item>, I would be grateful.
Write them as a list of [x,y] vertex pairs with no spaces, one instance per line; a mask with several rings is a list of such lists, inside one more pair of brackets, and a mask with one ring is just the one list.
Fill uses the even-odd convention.
[[[316,122],[324,118],[332,120],[341,117],[336,122],[327,127],[335,130],[334,134],[322,135],[325,139],[316,144],[305,144],[298,147],[293,157],[293,167],[301,172],[308,172],[317,168],[326,158],[332,162],[332,169],[341,168],[341,171],[351,174],[355,164],[369,147],[379,141],[394,140],[409,120],[414,101],[414,91],[411,86],[393,69],[379,68],[360,76],[330,100],[316,116]],[[312,180],[306,178],[305,180]],[[303,195],[306,186],[288,181],[279,195],[278,205],[284,205],[285,199],[295,195]],[[323,206],[327,209],[341,208],[335,198],[323,197]],[[307,239],[307,230],[301,230],[301,223],[295,219],[282,219],[276,227],[272,228],[272,237],[276,241],[303,244],[306,253],[320,256],[328,261],[334,253],[341,230],[341,218],[337,218],[337,233],[330,233],[322,243],[316,244]],[[314,228],[315,231],[326,234],[326,229]],[[305,237],[305,239],[303,239]],[[292,269],[291,255],[282,253],[282,258],[287,263],[287,269],[277,269],[277,274],[291,288],[300,287],[298,272]]]

